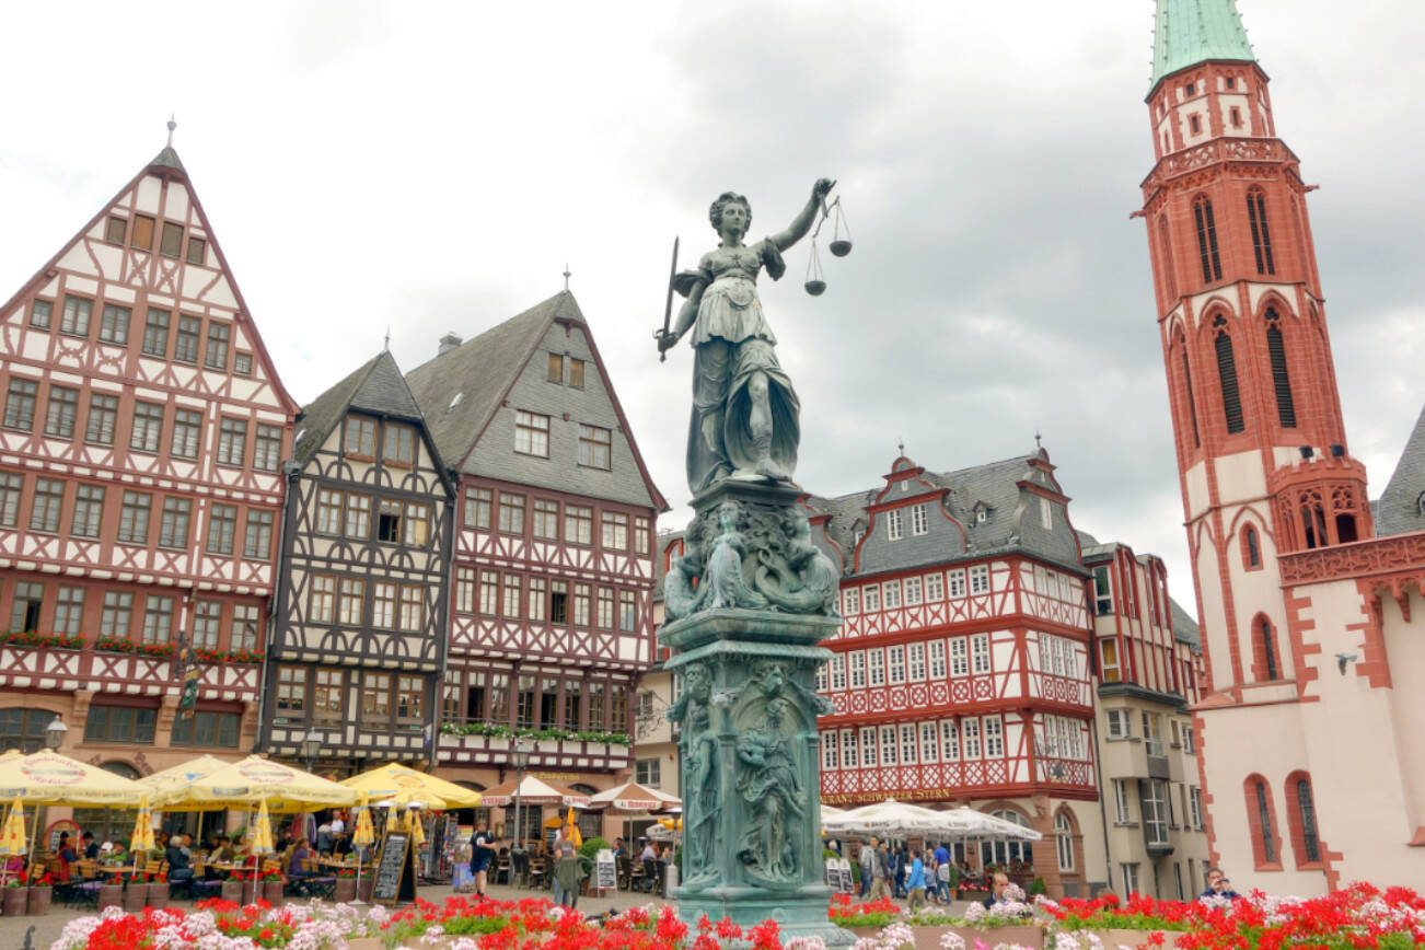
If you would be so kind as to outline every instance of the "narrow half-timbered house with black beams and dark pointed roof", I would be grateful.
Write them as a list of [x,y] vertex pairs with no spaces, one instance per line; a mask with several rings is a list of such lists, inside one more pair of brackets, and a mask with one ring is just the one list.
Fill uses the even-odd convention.
[[286,471],[261,746],[430,763],[455,484],[389,352],[302,409]]

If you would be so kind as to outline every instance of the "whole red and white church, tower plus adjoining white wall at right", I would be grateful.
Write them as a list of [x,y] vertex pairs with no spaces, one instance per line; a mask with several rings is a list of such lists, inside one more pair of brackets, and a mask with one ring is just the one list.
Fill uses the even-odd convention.
[[1211,859],[1278,893],[1425,886],[1419,433],[1377,521],[1267,74],[1231,0],[1157,17],[1140,214],[1207,664]]

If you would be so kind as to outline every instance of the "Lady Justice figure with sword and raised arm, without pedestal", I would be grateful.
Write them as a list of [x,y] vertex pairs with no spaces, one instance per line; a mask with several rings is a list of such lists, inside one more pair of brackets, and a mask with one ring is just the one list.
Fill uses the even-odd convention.
[[[785,231],[751,246],[747,198],[727,191],[708,211],[721,242],[697,271],[673,278],[687,301],[673,329],[657,335],[658,352],[693,330],[693,419],[688,426],[688,487],[694,494],[724,479],[791,481],[801,440],[801,404],[777,362],[777,338],[757,298],[757,275],[787,271],[782,252],[807,236],[836,182],[821,178],[807,207]],[[671,298],[670,298],[671,302]]]

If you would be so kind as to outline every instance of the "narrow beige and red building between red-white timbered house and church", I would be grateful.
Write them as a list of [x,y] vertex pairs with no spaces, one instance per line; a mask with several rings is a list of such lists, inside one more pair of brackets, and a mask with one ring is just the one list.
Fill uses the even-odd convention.
[[1167,593],[1167,567],[1080,533],[1093,573],[1100,783],[1112,880],[1191,899],[1207,866],[1191,706],[1206,667],[1197,624]]

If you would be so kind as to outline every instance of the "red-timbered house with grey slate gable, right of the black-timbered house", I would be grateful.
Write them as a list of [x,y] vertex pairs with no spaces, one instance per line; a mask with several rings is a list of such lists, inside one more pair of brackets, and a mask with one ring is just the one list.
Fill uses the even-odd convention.
[[607,786],[633,763],[628,696],[653,662],[667,506],[589,323],[564,291],[445,338],[408,380],[459,480],[440,772],[497,782],[524,732],[532,771]]

